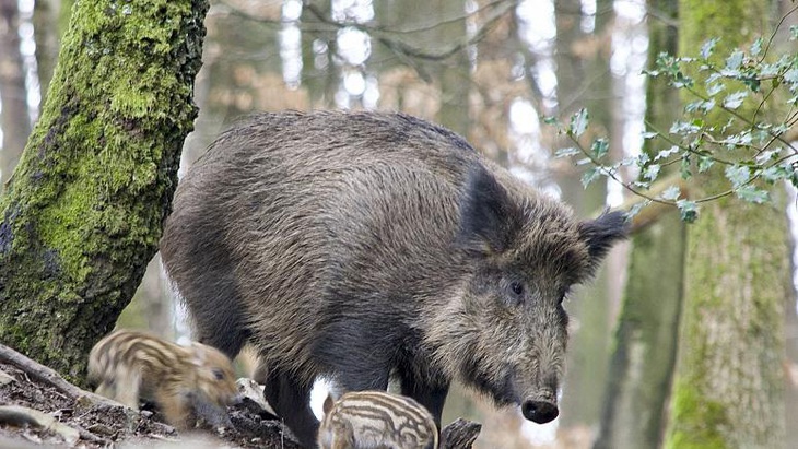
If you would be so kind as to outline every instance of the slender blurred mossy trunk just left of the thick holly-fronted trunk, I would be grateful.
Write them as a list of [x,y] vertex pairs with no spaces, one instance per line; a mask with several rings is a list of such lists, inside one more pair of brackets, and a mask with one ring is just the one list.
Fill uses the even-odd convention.
[[[677,51],[677,0],[649,0],[648,67],[661,51]],[[679,95],[664,80],[649,80],[646,121],[668,129]],[[646,141],[655,153],[666,142]],[[599,437],[594,448],[655,448],[661,442],[665,404],[676,362],[682,300],[684,224],[679,212],[632,237],[623,305],[615,330]]]

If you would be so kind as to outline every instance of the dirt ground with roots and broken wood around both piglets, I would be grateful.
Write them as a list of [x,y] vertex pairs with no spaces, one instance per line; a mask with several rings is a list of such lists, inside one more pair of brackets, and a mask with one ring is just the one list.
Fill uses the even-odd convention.
[[[267,411],[262,388],[238,380],[243,400],[228,407],[230,428],[177,433],[157,410],[133,411],[84,391],[55,370],[0,344],[0,449],[240,448],[302,449]],[[441,449],[470,449],[479,423],[457,420],[441,433]]]

